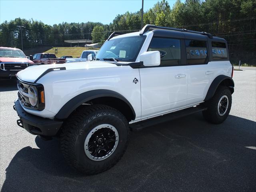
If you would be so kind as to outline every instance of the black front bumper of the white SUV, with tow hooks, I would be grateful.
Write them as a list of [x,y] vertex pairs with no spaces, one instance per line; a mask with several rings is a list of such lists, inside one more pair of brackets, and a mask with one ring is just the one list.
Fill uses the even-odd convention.
[[17,120],[18,126],[34,135],[55,136],[63,124],[63,121],[42,118],[27,113],[20,105],[19,100],[14,102],[13,108],[20,117]]

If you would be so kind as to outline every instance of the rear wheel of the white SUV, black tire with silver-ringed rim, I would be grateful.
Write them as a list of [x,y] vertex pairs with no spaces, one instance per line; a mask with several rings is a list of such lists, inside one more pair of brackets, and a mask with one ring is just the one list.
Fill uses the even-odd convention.
[[227,86],[220,86],[214,96],[206,102],[207,110],[203,111],[204,118],[213,124],[226,120],[231,109],[232,96]]

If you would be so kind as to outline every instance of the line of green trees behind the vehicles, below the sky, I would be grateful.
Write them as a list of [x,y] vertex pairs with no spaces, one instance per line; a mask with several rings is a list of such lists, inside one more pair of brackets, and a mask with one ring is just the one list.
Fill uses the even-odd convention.
[[[143,22],[209,32],[228,41],[231,58],[249,61],[256,56],[255,0],[176,0],[172,8],[166,0],[161,0],[144,12]],[[0,24],[0,45],[21,48],[21,34],[17,28],[21,25],[26,27],[22,29],[24,48],[31,48],[77,39],[102,44],[113,31],[140,30],[140,23],[141,10],[118,14],[110,24],[63,22],[51,26],[33,19],[16,18]]]

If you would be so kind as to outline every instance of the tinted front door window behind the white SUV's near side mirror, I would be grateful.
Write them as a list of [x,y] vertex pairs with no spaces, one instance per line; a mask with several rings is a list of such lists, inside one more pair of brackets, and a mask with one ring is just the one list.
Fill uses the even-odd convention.
[[160,66],[180,65],[180,40],[153,37],[148,51],[159,51]]

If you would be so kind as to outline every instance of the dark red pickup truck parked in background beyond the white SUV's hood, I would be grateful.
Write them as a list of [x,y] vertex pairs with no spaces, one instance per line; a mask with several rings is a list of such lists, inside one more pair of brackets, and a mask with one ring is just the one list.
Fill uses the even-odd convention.
[[37,53],[33,56],[33,62],[41,65],[44,64],[62,64],[66,63],[66,59],[57,58],[55,54],[51,53]]

